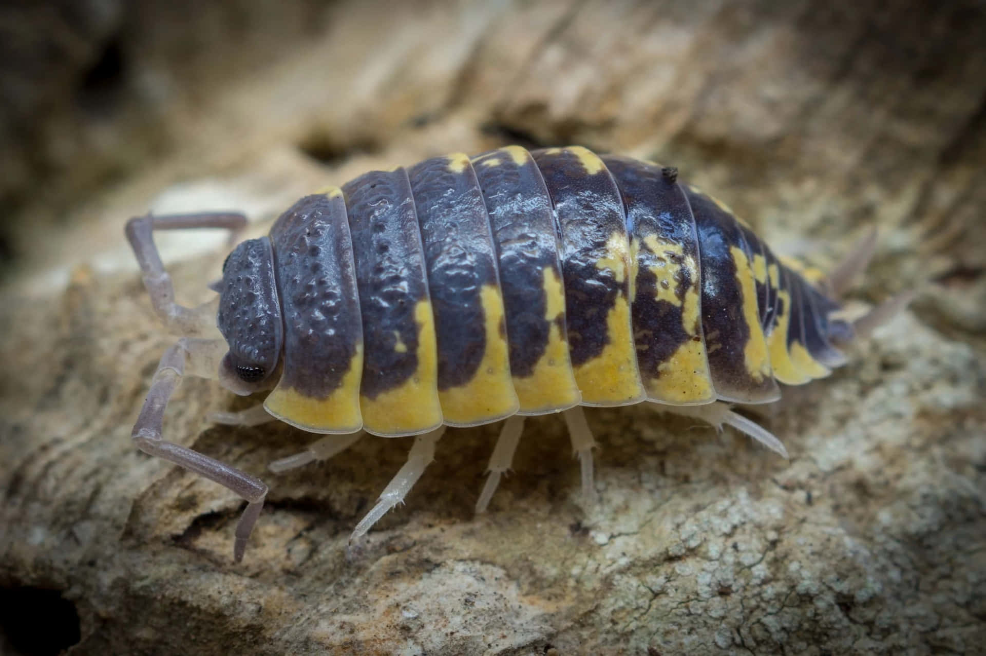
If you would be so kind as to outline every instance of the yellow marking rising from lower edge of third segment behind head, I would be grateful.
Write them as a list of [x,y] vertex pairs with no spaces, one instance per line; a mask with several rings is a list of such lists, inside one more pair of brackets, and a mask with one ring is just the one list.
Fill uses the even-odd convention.
[[471,380],[438,393],[449,426],[495,422],[513,415],[519,408],[510,375],[509,345],[502,330],[503,296],[497,285],[484,285],[479,297],[486,317],[486,348]]

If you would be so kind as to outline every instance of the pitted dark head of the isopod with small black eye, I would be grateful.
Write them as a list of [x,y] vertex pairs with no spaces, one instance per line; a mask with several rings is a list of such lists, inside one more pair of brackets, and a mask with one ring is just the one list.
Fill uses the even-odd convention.
[[270,239],[248,239],[223,265],[217,325],[230,364],[249,382],[266,378],[281,357],[284,325]]

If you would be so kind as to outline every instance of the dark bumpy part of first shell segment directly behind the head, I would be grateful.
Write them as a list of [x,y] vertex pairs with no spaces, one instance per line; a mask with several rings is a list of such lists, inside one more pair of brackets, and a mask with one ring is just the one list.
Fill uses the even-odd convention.
[[363,343],[353,246],[342,197],[306,196],[270,230],[284,308],[281,385],[327,398]]

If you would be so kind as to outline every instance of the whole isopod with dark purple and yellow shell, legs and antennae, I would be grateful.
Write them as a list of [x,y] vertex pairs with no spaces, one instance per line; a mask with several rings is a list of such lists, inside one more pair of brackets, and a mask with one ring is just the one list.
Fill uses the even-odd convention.
[[238,560],[267,488],[162,439],[182,373],[218,375],[238,394],[271,390],[262,407],[218,421],[279,419],[329,433],[273,463],[275,472],[336,453],[363,431],[417,435],[355,537],[420,477],[444,426],[507,420],[479,511],[527,415],[564,414],[587,494],[594,440],[580,406],[653,402],[736,426],[786,456],[726,402],[776,401],[778,381],[802,384],[844,362],[836,347],[854,326],[832,316],[836,295],[873,248],[865,240],[826,283],[779,261],[673,168],[512,146],[372,171],[307,196],[268,236],[230,254],[216,301],[177,305],[152,230],[244,222],[209,214],[127,225],[155,308],[187,336],[163,358],[134,439],[247,500]]

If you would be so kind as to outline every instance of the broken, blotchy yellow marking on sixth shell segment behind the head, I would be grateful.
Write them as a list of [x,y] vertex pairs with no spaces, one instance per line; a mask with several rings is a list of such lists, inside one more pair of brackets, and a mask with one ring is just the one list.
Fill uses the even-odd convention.
[[[680,243],[666,241],[657,235],[648,234],[644,243],[652,253],[664,259],[661,266],[650,267],[657,279],[655,283],[658,300],[667,300],[681,308],[681,328],[690,339],[681,344],[667,361],[658,365],[658,377],[644,381],[647,397],[654,401],[676,405],[699,405],[710,403],[716,398],[712,384],[709,361],[705,353],[701,330],[701,296],[699,295],[698,265],[695,258],[684,254]],[[678,255],[681,264],[675,263],[666,255]],[[679,298],[674,293],[681,269],[687,269],[692,284]]]

